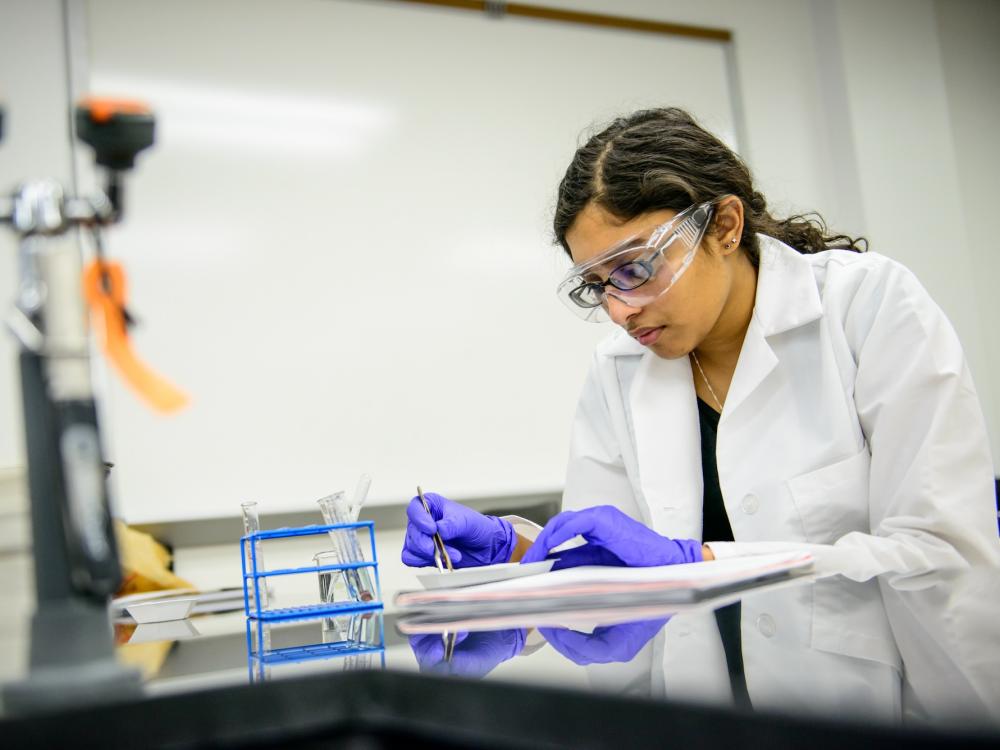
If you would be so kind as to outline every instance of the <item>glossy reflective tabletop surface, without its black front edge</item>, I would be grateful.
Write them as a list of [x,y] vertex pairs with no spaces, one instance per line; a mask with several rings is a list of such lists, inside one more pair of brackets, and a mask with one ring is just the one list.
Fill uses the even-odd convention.
[[1000,577],[963,571],[772,583],[696,604],[358,613],[257,629],[243,613],[120,624],[164,694],[395,670],[739,711],[1000,733]]

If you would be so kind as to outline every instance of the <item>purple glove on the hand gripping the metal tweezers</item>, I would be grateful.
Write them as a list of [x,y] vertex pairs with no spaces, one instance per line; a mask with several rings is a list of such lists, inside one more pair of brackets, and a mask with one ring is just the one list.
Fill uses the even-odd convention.
[[510,523],[496,516],[483,515],[433,492],[425,492],[424,499],[431,509],[430,516],[419,497],[410,500],[406,509],[408,522],[401,555],[403,564],[413,567],[434,565],[435,531],[444,540],[448,557],[456,568],[510,562],[510,555],[517,546],[517,534]]

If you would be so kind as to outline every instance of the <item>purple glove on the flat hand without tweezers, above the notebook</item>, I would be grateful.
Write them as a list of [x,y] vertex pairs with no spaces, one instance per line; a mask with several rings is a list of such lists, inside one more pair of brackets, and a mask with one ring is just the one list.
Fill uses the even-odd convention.
[[[577,535],[587,544],[549,555],[554,547]],[[553,570],[578,565],[621,565],[635,568],[701,562],[701,542],[670,539],[633,520],[612,505],[566,510],[552,518],[522,563],[558,557]]]

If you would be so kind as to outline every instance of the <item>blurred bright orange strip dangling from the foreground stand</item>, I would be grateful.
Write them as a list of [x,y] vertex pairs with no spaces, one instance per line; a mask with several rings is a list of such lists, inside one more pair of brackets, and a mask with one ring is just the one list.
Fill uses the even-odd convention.
[[125,383],[153,409],[163,413],[178,411],[190,402],[187,395],[156,374],[132,350],[125,325],[126,293],[125,271],[120,264],[94,261],[84,270],[83,295],[90,307],[91,324],[102,333],[104,353]]

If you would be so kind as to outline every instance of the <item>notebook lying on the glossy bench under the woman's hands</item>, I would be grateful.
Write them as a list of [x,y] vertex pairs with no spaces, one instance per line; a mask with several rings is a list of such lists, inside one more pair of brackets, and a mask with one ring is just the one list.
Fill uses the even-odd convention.
[[478,586],[404,591],[396,605],[407,610],[474,609],[538,611],[633,605],[636,602],[693,602],[792,575],[807,573],[807,552],[754,555],[657,568],[584,566]]

